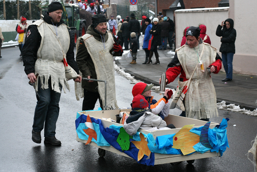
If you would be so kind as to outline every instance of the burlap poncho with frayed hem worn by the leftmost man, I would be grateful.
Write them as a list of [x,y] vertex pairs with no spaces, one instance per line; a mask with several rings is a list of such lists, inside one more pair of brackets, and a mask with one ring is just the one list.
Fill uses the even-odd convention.
[[[35,63],[35,73],[38,73],[41,79],[41,89],[48,88],[48,78],[51,77],[51,87],[54,91],[61,93],[59,84],[63,87],[64,92],[65,86],[70,90],[63,65],[63,52],[66,54],[70,46],[70,36],[67,26],[61,24],[57,27],[59,41],[63,48],[62,52],[61,45],[56,39],[56,34],[54,34],[56,33],[56,26],[54,29],[54,25],[47,24],[43,19],[33,24],[37,25],[37,29],[42,37]],[[38,82],[35,83],[35,90],[38,91]]]

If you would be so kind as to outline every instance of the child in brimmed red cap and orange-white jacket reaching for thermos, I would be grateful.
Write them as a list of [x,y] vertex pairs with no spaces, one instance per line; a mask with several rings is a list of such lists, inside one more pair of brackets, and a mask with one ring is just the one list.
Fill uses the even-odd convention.
[[[164,92],[163,98],[161,98],[157,102],[155,99],[153,99],[154,96],[151,96],[152,87],[153,85],[148,85],[146,83],[142,83],[142,82],[136,83],[133,86],[132,95],[133,97],[139,94],[144,96],[149,104],[148,108],[151,109],[152,113],[155,115],[159,115],[161,116],[162,119],[164,119],[164,117],[167,117],[169,115],[170,102],[168,100],[171,98],[173,92],[172,90],[166,89]],[[131,107],[133,110],[134,108],[133,105]]]

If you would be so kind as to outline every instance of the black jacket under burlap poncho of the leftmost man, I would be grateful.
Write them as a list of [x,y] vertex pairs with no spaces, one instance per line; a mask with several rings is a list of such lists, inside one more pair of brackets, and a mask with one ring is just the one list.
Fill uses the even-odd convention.
[[[52,24],[51,17],[49,17],[47,14],[44,16],[43,20],[48,24]],[[61,19],[60,23],[57,23],[57,27],[63,23],[64,21]],[[25,66],[24,71],[27,75],[29,73],[35,73],[37,50],[40,47],[41,39],[42,39],[36,25],[29,25],[27,29],[27,33],[28,31],[30,31],[31,34],[29,35],[29,37],[27,37],[26,35],[24,46],[22,48],[23,66]],[[69,31],[69,34],[70,34],[70,31]],[[73,46],[73,41],[71,39],[71,35],[70,35],[70,47],[67,51],[66,59],[70,67],[72,67],[76,71],[76,73],[79,74],[79,68],[74,59],[74,46]]]

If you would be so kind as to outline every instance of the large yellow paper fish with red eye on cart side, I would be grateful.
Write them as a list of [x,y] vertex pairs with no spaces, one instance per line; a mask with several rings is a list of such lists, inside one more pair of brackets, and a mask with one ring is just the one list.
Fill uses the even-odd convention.
[[172,148],[180,149],[183,155],[194,152],[193,146],[200,141],[200,136],[190,132],[194,125],[185,125],[173,137]]

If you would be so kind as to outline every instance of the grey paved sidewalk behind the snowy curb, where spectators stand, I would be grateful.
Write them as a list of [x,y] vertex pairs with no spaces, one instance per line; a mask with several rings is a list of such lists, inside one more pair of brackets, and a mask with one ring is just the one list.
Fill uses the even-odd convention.
[[[126,58],[126,52],[128,51],[124,51],[122,57],[115,59],[116,64],[125,72],[135,76],[135,79],[148,84],[153,83],[155,86],[159,86],[161,74],[166,72],[168,64],[174,57],[174,52],[171,50],[158,50],[160,64],[142,64],[145,62],[145,51],[140,47],[137,53],[137,64],[129,64],[132,59]],[[155,55],[153,55],[152,61],[155,63]],[[216,90],[217,102],[224,100],[226,105],[235,104],[239,105],[241,109],[245,108],[251,111],[257,108],[255,104],[257,99],[257,76],[233,74],[233,80],[227,82],[227,84],[221,81],[226,78],[226,73],[212,73],[211,76]],[[166,87],[176,89],[178,78],[179,76]]]

